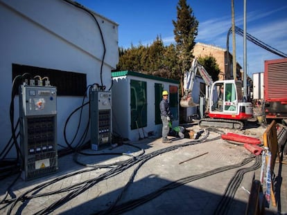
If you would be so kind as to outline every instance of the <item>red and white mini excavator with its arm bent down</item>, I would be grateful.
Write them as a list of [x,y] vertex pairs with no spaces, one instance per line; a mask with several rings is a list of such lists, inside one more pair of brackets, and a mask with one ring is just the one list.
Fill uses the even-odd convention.
[[213,82],[209,73],[196,58],[193,59],[189,71],[184,74],[184,95],[180,100],[180,106],[187,108],[199,105],[193,102],[191,96],[197,73],[208,86],[207,95],[205,95],[205,116],[199,120],[199,126],[243,129],[245,122],[253,117],[253,107],[251,102],[243,101],[242,82],[237,80]]

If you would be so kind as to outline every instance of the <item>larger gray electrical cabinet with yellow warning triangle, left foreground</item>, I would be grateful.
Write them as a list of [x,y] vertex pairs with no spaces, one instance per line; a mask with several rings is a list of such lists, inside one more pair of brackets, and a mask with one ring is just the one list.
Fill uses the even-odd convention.
[[58,170],[57,89],[21,85],[19,90],[20,146],[24,180]]

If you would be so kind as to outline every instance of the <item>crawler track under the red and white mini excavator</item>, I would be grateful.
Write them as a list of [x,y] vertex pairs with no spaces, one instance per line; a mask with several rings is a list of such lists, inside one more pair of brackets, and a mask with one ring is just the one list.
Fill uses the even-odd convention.
[[224,119],[214,119],[214,118],[205,118],[201,119],[198,122],[198,125],[202,128],[222,128],[222,129],[234,129],[234,130],[242,130],[243,122],[238,120],[224,120]]

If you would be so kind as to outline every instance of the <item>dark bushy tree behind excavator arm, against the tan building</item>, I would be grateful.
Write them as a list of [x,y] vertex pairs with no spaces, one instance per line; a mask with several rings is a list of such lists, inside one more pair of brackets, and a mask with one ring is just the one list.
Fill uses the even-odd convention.
[[199,56],[198,57],[198,62],[205,67],[205,70],[209,75],[212,77],[212,80],[216,82],[218,80],[218,75],[220,73],[219,66],[216,62],[215,57],[212,55],[205,55],[205,57]]

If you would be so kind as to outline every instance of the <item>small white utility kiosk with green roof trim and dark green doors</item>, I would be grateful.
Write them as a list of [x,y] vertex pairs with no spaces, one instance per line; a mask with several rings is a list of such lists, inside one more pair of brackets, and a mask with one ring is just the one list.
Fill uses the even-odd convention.
[[112,73],[112,116],[114,135],[128,140],[162,135],[159,102],[162,91],[169,93],[173,127],[178,126],[179,82],[132,71]]

